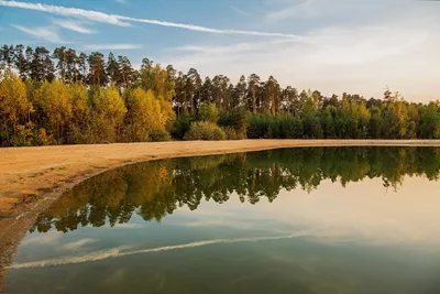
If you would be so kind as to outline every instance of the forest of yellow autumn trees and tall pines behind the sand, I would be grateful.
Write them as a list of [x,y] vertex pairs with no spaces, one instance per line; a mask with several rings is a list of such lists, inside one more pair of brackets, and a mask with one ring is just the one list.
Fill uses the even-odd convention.
[[440,139],[440,101],[201,79],[148,58],[0,47],[0,146],[238,139]]

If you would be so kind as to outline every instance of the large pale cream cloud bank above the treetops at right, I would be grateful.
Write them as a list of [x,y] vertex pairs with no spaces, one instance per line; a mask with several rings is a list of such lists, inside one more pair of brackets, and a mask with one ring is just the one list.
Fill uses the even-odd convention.
[[262,78],[275,75],[283,86],[366,97],[382,97],[389,85],[408,99],[427,100],[440,92],[439,32],[429,20],[320,29],[295,42],[190,44],[162,58],[182,70],[223,73],[233,81],[256,73]]

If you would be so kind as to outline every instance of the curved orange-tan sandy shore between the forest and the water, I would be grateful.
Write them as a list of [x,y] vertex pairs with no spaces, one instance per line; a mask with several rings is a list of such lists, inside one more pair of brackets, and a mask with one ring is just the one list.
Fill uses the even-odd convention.
[[345,145],[440,146],[440,140],[242,140],[0,149],[0,257],[2,250],[15,248],[40,211],[64,190],[107,170],[155,159]]

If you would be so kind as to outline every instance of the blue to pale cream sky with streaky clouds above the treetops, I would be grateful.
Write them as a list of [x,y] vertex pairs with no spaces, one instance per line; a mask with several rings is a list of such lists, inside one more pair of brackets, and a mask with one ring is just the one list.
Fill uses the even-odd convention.
[[0,0],[0,43],[273,75],[323,95],[440,99],[440,1]]

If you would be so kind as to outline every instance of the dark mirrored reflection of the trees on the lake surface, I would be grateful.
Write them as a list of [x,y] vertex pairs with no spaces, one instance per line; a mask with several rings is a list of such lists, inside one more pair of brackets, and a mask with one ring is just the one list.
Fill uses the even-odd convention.
[[133,213],[160,221],[178,207],[197,209],[204,200],[257,204],[273,202],[282,189],[311,192],[322,181],[346,186],[382,178],[397,189],[406,175],[439,178],[436,148],[314,148],[161,160],[95,176],[63,195],[40,215],[31,231],[125,224]]

